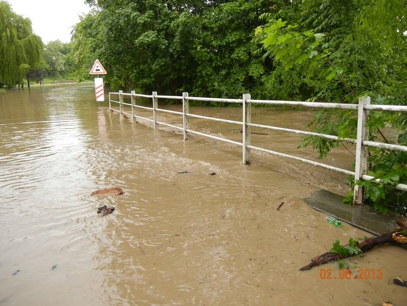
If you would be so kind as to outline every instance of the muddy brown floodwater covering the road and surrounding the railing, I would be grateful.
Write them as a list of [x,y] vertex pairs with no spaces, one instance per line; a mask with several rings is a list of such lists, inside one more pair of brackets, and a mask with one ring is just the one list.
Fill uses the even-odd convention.
[[[184,143],[178,132],[132,123],[94,100],[92,86],[0,93],[2,305],[407,304],[407,290],[391,282],[407,279],[406,253],[394,246],[346,262],[353,276],[382,269],[382,280],[334,279],[337,263],[322,267],[332,280],[321,280],[319,267],[298,270],[333,240],[368,235],[331,226],[302,200],[321,188],[345,194],[345,176],[255,152],[245,166],[240,147],[193,135]],[[241,118],[241,108],[191,113]],[[252,122],[290,128],[313,116],[252,114]],[[237,126],[190,124],[242,137]],[[297,149],[300,135],[253,131],[268,134],[253,134],[255,146],[317,159]],[[352,161],[343,147],[326,160],[347,169]],[[113,186],[125,193],[90,196]],[[116,210],[100,217],[103,205]]]

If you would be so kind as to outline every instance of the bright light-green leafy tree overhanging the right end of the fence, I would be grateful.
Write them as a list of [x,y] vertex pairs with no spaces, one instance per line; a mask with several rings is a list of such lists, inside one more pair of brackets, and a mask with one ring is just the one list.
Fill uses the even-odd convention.
[[[406,1],[308,0],[299,8],[301,18],[295,22],[265,14],[267,23],[256,29],[266,56],[276,66],[265,76],[272,80],[276,92],[286,88],[283,82],[275,81],[283,79],[302,99],[357,103],[359,97],[369,95],[373,103],[406,104]],[[355,138],[356,123],[354,112],[322,110],[311,124],[317,132]],[[405,114],[371,112],[370,140],[388,142],[381,131],[386,123],[397,131],[397,142],[406,145]],[[307,145],[325,157],[338,143],[306,137],[303,146]],[[371,149],[369,156],[371,175],[389,185],[407,180],[405,153]],[[366,198],[376,208],[395,207],[407,213],[402,192],[385,184],[356,183],[366,185]]]

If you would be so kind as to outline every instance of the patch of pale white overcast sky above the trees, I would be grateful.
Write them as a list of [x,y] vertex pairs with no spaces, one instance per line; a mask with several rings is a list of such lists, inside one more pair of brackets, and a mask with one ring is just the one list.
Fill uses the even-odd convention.
[[69,42],[79,15],[89,12],[84,0],[6,0],[13,11],[31,19],[33,32],[44,44],[51,40]]

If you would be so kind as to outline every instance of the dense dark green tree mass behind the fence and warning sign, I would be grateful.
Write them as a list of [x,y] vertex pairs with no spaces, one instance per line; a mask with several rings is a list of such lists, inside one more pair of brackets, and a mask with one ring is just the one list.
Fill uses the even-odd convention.
[[[270,2],[89,1],[93,11],[79,22],[73,43],[78,72],[89,74],[95,58],[113,88],[175,94],[266,96],[262,76],[270,61],[254,54],[259,16]],[[290,6],[289,1],[278,1]],[[92,56],[90,56],[92,54]]]

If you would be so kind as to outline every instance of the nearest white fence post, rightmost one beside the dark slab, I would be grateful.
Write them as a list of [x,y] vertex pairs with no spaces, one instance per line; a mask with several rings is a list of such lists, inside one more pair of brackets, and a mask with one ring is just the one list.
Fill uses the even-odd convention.
[[[368,112],[364,106],[370,104],[370,97],[359,98],[358,108],[358,129],[356,133],[356,160],[355,160],[355,182],[361,180],[367,172],[367,147],[363,146],[363,141],[368,140],[369,128],[366,125]],[[355,184],[353,194],[353,204],[363,204],[365,196],[364,187]]]

